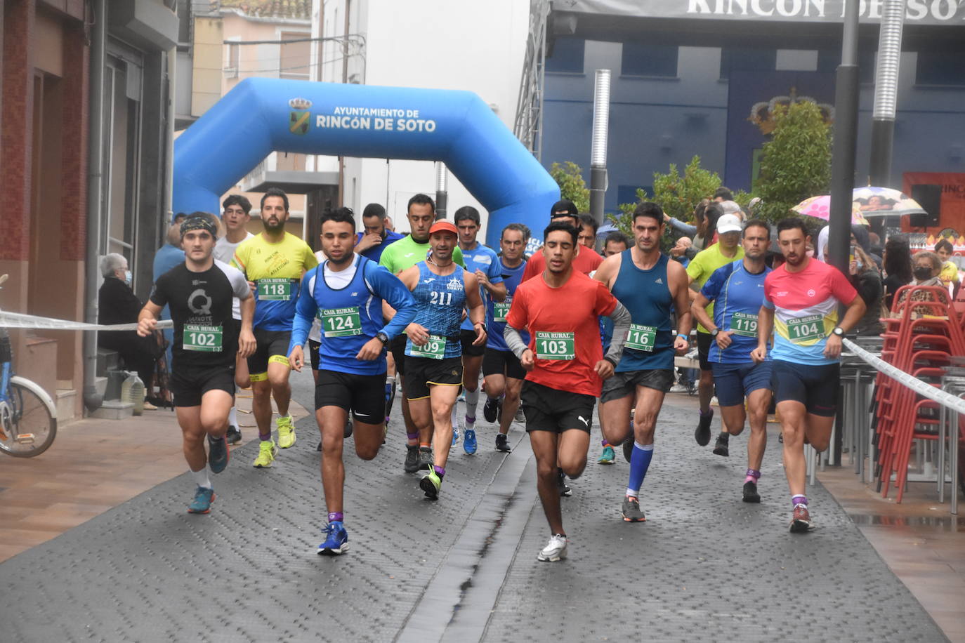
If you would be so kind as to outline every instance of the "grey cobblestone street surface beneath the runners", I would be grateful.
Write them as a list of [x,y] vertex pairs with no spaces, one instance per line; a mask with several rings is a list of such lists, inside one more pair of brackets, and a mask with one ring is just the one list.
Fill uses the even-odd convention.
[[[312,408],[311,376],[295,397]],[[763,502],[740,502],[743,438],[731,458],[693,441],[690,400],[671,398],[642,492],[648,522],[620,520],[627,465],[595,464],[564,498],[569,560],[538,563],[548,536],[529,441],[513,453],[454,449],[440,499],[401,469],[400,422],[371,463],[345,449],[351,549],[317,556],[324,523],[317,428],[272,469],[257,444],[232,453],[207,516],[185,512],[181,475],[0,564],[12,641],[696,639],[946,640],[820,487],[818,528],[787,533],[777,441]],[[398,413],[398,411],[397,411]]]

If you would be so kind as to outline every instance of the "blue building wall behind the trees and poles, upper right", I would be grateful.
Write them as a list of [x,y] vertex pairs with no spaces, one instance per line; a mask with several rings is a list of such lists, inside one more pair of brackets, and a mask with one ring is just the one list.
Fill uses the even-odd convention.
[[[774,73],[776,66],[786,67],[789,63],[791,67],[813,65],[814,77],[833,81],[828,74],[834,71],[840,57],[834,51],[782,51],[775,56],[775,47],[728,50],[722,54],[719,47],[680,46],[673,47],[677,52],[676,75],[645,76],[624,74],[623,63],[635,71],[667,74],[671,55],[665,47],[641,52],[638,44],[630,45],[634,47],[628,52],[632,55],[651,54],[652,62],[640,65],[634,60],[622,60],[623,46],[620,42],[557,39],[553,56],[547,60],[545,77],[542,163],[549,168],[554,161],[573,161],[583,167],[589,181],[594,70],[612,71],[608,211],[615,211],[620,202],[632,201],[636,187],[651,186],[655,172],[666,173],[671,163],[682,170],[695,154],[701,156],[703,167],[720,174],[728,187],[749,189],[749,181],[729,180],[745,173],[728,167],[730,81],[722,74],[730,75],[729,69],[750,70],[759,73],[764,84],[765,78],[771,80],[781,75]],[[901,187],[905,172],[965,172],[965,66],[957,54],[925,56],[922,77],[943,84],[917,82],[919,54],[902,54],[891,180],[891,186],[896,188]],[[873,60],[873,51],[861,52],[865,82],[861,86],[857,185],[867,182],[869,169]],[[755,96],[754,100],[766,100],[773,92],[768,88],[764,94],[767,95]],[[818,96],[819,101],[824,99],[825,96]],[[749,109],[741,118],[746,116]]]

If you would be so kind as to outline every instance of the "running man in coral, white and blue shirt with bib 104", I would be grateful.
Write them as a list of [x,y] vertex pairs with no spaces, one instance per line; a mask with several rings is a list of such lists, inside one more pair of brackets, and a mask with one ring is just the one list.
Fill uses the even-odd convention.
[[[773,330],[772,382],[793,507],[791,533],[812,527],[804,495],[804,442],[818,452],[828,447],[838,411],[841,337],[865,314],[865,301],[841,271],[807,255],[810,241],[808,228],[798,217],[778,222],[778,245],[785,263],[764,279],[758,347],[751,353],[755,362],[767,359],[767,340]],[[847,310],[839,322],[841,305]]]

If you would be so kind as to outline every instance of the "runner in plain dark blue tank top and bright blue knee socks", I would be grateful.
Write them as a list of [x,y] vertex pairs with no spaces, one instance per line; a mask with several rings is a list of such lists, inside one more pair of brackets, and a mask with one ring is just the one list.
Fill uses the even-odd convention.
[[[653,457],[657,415],[664,395],[674,384],[675,353],[687,349],[690,335],[687,273],[660,253],[663,230],[660,206],[639,203],[633,212],[633,248],[607,258],[594,275],[610,288],[631,317],[620,363],[614,376],[603,383],[600,396],[603,437],[611,444],[623,443],[623,456],[630,463],[622,507],[626,522],[646,520],[639,496]],[[671,308],[677,311],[676,338]],[[631,427],[630,409],[634,405]]]

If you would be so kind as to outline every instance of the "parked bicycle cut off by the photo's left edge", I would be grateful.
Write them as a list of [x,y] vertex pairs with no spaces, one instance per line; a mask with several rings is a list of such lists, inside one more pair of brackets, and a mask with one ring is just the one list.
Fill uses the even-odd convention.
[[[0,276],[0,285],[7,281]],[[0,451],[32,458],[46,451],[57,435],[57,407],[43,388],[14,375],[10,334],[0,328]]]

